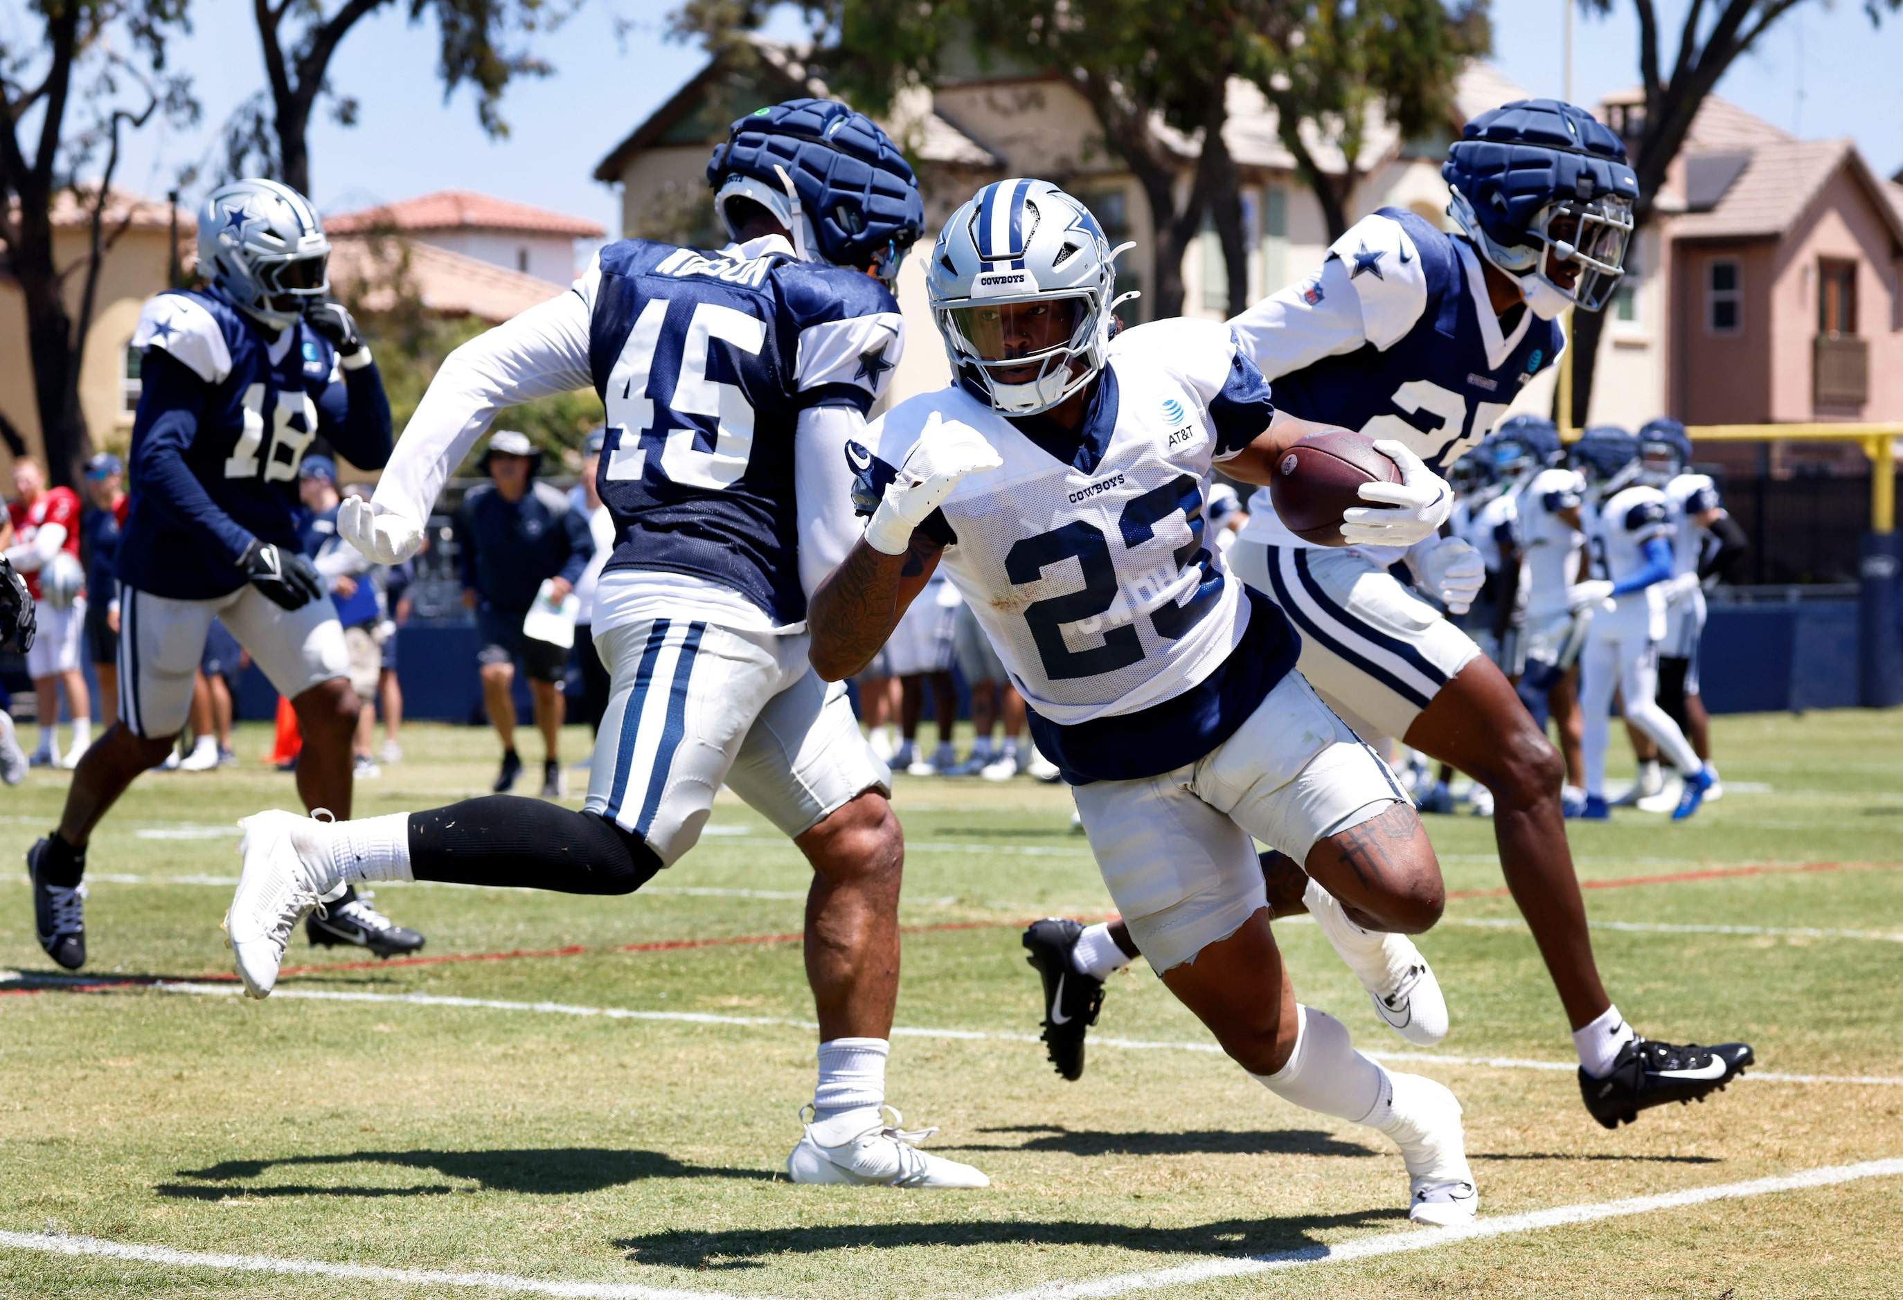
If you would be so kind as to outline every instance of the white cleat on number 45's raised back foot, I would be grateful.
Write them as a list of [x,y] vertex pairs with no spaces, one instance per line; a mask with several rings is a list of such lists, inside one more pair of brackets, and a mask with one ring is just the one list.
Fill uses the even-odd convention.
[[[324,809],[316,809],[329,817]],[[314,817],[253,813],[238,822],[244,870],[225,914],[225,944],[251,997],[270,997],[291,931],[314,908],[341,898],[346,883],[329,864]]]

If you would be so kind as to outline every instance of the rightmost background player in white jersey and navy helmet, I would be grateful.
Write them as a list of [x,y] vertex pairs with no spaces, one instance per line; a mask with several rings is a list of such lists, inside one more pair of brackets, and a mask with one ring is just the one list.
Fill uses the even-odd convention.
[[[1675,419],[1648,421],[1638,430],[1638,453],[1648,474],[1665,482],[1673,508],[1673,598],[1665,607],[1665,641],[1659,645],[1659,708],[1684,731],[1692,750],[1713,775],[1711,723],[1697,693],[1697,645],[1705,636],[1705,582],[1730,569],[1749,550],[1745,529],[1737,527],[1718,485],[1709,474],[1692,474],[1692,440]],[[1705,803],[1724,796],[1722,780],[1713,780]]]

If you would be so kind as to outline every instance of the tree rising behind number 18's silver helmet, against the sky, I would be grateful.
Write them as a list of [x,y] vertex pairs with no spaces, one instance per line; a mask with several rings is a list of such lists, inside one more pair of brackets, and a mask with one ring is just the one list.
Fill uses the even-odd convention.
[[[183,2],[183,0],[181,0]],[[358,101],[329,82],[331,57],[350,29],[394,0],[253,0],[266,89],[247,99],[226,126],[225,171],[268,175],[310,194],[310,114],[320,99],[354,126]],[[508,135],[499,105],[516,76],[552,69],[525,48],[539,30],[559,25],[580,0],[407,0],[409,21],[434,17],[441,34],[436,74],[449,99],[464,82],[476,88],[476,116],[493,137]]]

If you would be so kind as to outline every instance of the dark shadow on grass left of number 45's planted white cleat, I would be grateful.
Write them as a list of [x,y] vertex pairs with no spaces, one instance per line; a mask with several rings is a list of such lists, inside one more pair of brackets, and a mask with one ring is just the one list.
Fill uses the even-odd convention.
[[464,1188],[422,1184],[415,1188],[337,1188],[270,1184],[249,1186],[272,1169],[312,1169],[324,1165],[394,1165],[398,1169],[432,1169],[445,1178],[466,1178],[480,1188],[470,1192],[520,1192],[525,1195],[575,1195],[601,1192],[645,1178],[757,1178],[771,1180],[767,1169],[714,1169],[687,1165],[660,1152],[615,1152],[605,1148],[533,1148],[518,1152],[339,1152],[335,1155],[287,1155],[284,1159],[228,1159],[207,1169],[181,1169],[179,1178],[190,1184],[164,1182],[158,1195],[192,1201],[221,1201],[225,1197],[285,1197],[285,1195],[447,1195]]

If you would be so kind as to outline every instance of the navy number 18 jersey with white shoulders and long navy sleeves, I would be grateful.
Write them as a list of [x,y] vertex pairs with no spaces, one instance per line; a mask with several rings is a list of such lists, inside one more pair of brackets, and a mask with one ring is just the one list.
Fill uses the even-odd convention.
[[160,293],[139,312],[139,413],[131,512],[118,579],[173,600],[245,584],[251,541],[301,550],[297,468],[320,434],[352,464],[390,459],[390,404],[377,365],[344,369],[297,322],[266,335],[215,289]]

